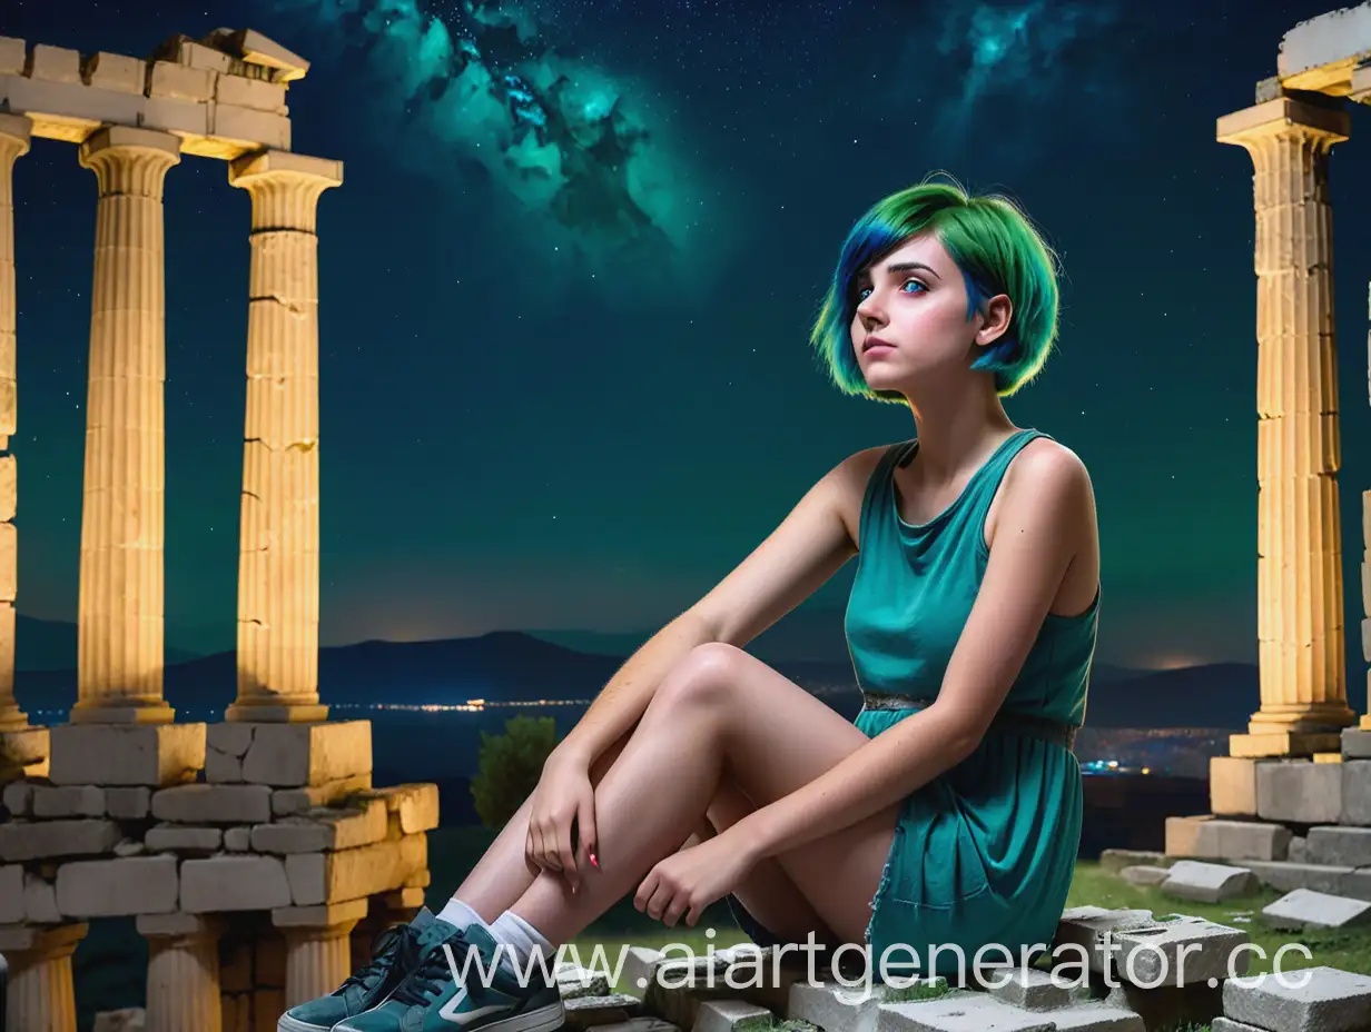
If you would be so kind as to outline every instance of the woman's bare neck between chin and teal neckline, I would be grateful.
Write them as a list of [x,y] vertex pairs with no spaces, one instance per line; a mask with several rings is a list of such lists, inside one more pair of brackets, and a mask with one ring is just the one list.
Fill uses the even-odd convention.
[[1017,428],[995,395],[990,373],[961,377],[957,388],[910,395],[919,437],[919,465],[930,482],[953,481],[968,466],[983,462],[998,441]]

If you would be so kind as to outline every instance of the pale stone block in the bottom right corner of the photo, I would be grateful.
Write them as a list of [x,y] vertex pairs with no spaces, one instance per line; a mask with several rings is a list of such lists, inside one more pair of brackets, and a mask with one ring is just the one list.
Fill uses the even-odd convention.
[[1361,1032],[1371,1025],[1371,976],[1320,966],[1228,979],[1223,1013],[1272,1032]]

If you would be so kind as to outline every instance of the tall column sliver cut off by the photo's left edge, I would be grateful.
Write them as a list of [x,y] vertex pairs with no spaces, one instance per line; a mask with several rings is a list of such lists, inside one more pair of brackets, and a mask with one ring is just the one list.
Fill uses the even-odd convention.
[[[0,114],[0,448],[10,447],[18,415],[15,397],[14,163],[29,152],[33,122]],[[0,456],[0,780],[41,763],[48,732],[34,728],[14,698],[14,598],[18,539],[15,456]]]

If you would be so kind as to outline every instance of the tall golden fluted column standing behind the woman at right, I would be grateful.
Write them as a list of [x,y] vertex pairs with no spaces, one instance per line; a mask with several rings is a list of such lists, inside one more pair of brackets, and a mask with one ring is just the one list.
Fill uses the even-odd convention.
[[1235,757],[1339,748],[1348,709],[1328,151],[1346,111],[1276,97],[1219,119],[1254,167],[1261,707]]

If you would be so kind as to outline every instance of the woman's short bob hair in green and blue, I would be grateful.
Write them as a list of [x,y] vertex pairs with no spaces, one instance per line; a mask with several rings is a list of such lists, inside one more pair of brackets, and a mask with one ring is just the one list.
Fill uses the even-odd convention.
[[903,402],[895,391],[866,385],[853,351],[858,277],[910,237],[934,233],[967,282],[967,319],[995,295],[1013,303],[1005,333],[971,367],[995,374],[1008,397],[1032,380],[1057,340],[1057,258],[1008,197],[969,196],[957,184],[924,181],[873,204],[847,234],[810,344],[834,384],[847,395]]

